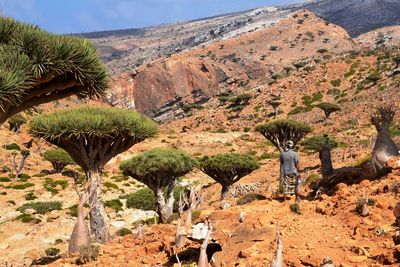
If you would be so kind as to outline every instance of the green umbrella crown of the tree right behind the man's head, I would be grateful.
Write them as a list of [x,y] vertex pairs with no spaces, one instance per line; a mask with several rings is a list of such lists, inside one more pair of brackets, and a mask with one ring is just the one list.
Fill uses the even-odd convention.
[[311,128],[301,122],[288,119],[279,119],[256,126],[255,131],[261,133],[276,148],[281,149],[289,140],[294,144],[300,142]]

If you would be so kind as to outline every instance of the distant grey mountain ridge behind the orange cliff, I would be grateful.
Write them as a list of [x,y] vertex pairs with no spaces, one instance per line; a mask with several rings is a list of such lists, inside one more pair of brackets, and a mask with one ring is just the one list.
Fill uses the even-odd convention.
[[115,75],[182,50],[268,28],[300,9],[308,9],[324,20],[341,26],[351,37],[400,25],[399,0],[316,0],[140,29],[78,35],[93,41],[101,59]]

